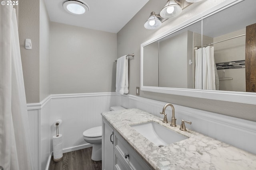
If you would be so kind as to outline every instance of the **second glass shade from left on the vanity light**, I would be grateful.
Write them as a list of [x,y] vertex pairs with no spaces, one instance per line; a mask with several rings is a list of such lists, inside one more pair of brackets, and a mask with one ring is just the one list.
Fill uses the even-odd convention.
[[175,0],[168,0],[160,12],[162,18],[173,18],[182,12],[182,8]]

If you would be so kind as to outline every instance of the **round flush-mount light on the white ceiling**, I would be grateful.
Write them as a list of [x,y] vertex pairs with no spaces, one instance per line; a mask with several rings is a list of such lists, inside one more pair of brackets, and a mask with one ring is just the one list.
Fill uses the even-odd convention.
[[67,0],[62,5],[67,12],[74,15],[81,15],[89,11],[89,6],[78,0]]

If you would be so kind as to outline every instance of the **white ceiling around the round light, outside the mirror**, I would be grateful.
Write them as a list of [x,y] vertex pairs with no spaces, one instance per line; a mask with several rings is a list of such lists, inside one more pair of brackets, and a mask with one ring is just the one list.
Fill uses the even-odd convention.
[[66,0],[44,0],[50,21],[118,33],[149,0],[81,0],[89,12],[73,15],[64,10]]

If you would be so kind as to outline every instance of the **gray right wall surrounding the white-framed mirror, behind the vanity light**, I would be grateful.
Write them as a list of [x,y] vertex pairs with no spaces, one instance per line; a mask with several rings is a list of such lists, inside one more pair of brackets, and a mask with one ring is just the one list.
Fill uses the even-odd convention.
[[[144,23],[148,19],[150,12],[155,11],[159,13],[166,3],[166,0],[150,0],[142,10],[126,24],[117,34],[117,55],[118,57],[128,53],[134,53],[135,55],[134,59],[130,59],[129,94],[136,95],[136,86],[140,86],[140,44],[221,2],[224,2],[224,0],[207,0],[192,4],[184,9],[179,17],[165,21],[159,29],[147,30],[144,28]],[[255,105],[146,91],[140,91],[140,96],[256,121]]]

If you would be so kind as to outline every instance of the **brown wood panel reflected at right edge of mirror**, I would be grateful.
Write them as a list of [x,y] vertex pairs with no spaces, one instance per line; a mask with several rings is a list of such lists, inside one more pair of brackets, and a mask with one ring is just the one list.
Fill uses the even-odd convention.
[[246,92],[256,92],[256,23],[246,27]]

